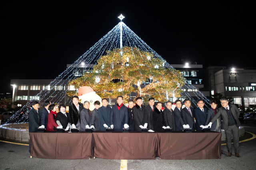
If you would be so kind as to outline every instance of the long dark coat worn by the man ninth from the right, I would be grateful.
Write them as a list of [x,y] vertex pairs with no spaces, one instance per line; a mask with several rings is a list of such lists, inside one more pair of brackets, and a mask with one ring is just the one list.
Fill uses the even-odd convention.
[[144,126],[145,122],[144,121],[144,107],[143,105],[138,106],[137,104],[132,108],[133,111],[133,117],[134,117],[134,130],[135,131],[141,131],[141,128],[139,127],[140,125]]

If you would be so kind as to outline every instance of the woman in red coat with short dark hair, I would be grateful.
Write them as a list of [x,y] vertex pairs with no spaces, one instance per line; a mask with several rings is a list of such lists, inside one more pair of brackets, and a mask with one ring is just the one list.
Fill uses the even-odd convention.
[[55,104],[51,104],[48,109],[50,110],[50,113],[48,115],[48,123],[47,123],[47,131],[56,131],[56,129],[59,129],[60,127],[56,123],[56,106]]

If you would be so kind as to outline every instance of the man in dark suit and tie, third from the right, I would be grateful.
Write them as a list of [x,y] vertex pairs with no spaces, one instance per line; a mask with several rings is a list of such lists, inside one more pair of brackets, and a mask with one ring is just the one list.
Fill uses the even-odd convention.
[[193,110],[196,119],[196,131],[202,131],[206,124],[207,109],[204,108],[204,101],[198,100],[197,108]]

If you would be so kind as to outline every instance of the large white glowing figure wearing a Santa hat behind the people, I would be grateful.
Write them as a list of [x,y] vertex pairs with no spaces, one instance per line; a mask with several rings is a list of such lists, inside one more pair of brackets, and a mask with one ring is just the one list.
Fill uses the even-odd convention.
[[78,90],[78,98],[81,99],[81,103],[84,104],[85,101],[90,102],[90,111],[94,110],[94,102],[99,101],[100,102],[100,107],[102,106],[101,98],[94,92],[92,88],[89,86],[83,86],[80,87]]

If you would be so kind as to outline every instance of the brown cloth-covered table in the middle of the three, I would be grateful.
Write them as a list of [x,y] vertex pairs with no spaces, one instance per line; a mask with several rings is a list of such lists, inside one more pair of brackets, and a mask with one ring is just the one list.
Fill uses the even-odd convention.
[[157,133],[131,131],[93,132],[94,156],[105,159],[156,159],[159,156]]

